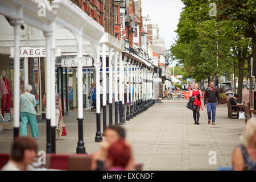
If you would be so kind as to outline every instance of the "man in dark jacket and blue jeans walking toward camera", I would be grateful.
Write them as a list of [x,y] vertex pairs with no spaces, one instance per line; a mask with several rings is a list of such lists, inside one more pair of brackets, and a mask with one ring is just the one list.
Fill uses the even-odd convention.
[[208,124],[210,124],[210,115],[212,113],[212,124],[215,125],[216,107],[220,106],[220,92],[214,88],[214,81],[210,81],[210,87],[204,93],[204,105],[207,106]]

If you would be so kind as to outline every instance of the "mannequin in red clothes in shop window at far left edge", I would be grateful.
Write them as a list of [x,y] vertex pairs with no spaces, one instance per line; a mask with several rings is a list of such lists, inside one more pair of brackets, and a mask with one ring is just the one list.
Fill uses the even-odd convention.
[[[5,78],[5,75],[6,75],[6,71],[5,70],[2,70],[1,72],[1,76],[0,76],[0,86],[1,86],[1,101],[2,101],[2,104],[1,104],[1,109],[2,109],[2,115],[4,115],[6,113],[6,110],[7,110],[7,107],[6,107],[6,102],[7,102],[7,95],[9,94],[8,93],[8,90],[6,88],[6,84],[5,84],[5,81],[4,81],[4,78]],[[9,95],[10,96],[10,95]]]

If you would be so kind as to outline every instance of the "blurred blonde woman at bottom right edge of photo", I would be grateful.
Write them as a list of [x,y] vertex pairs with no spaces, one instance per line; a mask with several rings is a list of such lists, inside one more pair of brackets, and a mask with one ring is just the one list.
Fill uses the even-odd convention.
[[241,144],[234,148],[232,156],[234,171],[256,171],[256,118],[247,121]]

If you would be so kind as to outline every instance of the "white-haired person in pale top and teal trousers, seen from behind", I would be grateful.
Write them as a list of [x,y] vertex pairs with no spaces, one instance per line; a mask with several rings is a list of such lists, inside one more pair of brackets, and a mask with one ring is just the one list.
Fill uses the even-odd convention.
[[20,136],[27,137],[27,122],[30,122],[31,134],[34,139],[39,137],[38,121],[36,120],[36,99],[31,94],[32,86],[26,86],[26,92],[20,95]]

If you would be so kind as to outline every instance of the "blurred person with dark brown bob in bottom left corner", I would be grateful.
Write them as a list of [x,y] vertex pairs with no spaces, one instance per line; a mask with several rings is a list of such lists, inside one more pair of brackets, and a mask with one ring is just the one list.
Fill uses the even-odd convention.
[[11,147],[9,161],[2,167],[2,171],[30,171],[36,158],[38,145],[30,137],[17,137]]

